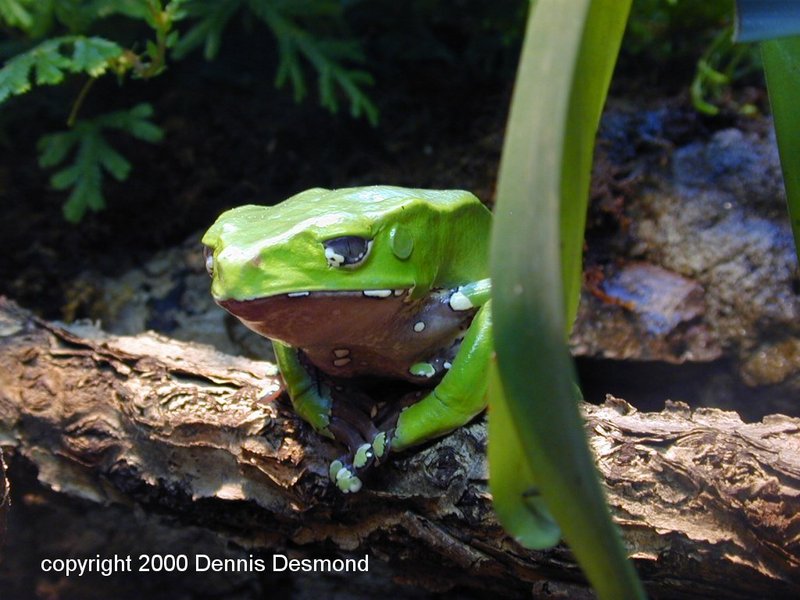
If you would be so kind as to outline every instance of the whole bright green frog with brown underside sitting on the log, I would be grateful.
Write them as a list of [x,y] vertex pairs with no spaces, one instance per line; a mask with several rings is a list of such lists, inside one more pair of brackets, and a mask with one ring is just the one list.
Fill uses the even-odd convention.
[[[343,492],[486,406],[491,213],[464,191],[311,189],[206,232],[214,299],[273,340],[297,413],[347,453]],[[406,382],[385,407],[361,382]]]

